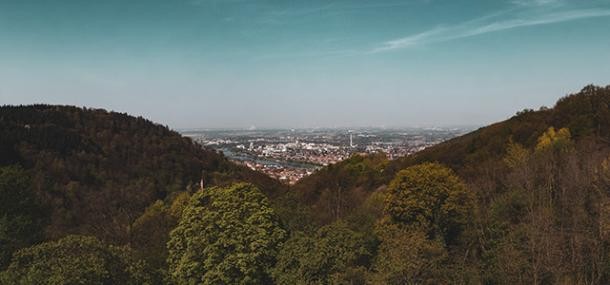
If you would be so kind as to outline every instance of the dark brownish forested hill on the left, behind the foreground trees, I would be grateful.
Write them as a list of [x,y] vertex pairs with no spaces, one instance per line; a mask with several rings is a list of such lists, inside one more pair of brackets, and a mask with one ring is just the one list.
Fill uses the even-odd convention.
[[24,169],[46,213],[44,239],[68,233],[124,243],[156,200],[247,181],[282,186],[142,117],[70,106],[0,107],[0,166]]

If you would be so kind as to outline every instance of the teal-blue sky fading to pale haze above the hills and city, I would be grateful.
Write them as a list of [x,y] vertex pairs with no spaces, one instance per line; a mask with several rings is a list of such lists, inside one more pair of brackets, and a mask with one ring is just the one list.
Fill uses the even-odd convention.
[[610,84],[610,0],[0,0],[0,104],[175,129],[485,125]]

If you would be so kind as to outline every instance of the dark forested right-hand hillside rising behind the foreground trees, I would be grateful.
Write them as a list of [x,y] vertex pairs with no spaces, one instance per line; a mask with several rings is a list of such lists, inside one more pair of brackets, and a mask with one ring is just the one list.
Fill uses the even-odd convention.
[[[295,204],[313,207],[314,220],[327,223],[346,217],[354,204],[389,184],[401,169],[424,162],[442,163],[464,178],[502,171],[509,142],[532,149],[550,127],[569,129],[579,145],[605,147],[610,142],[610,86],[587,86],[558,100],[553,108],[526,109],[503,122],[388,161],[383,156],[355,156],[324,168],[292,187]],[[593,147],[592,146],[592,147]],[[495,175],[495,174],[494,174]]]

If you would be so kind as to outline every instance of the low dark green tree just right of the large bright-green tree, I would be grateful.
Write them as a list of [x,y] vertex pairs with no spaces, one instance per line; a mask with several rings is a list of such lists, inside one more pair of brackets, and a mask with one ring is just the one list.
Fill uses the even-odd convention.
[[364,284],[370,255],[361,233],[336,222],[314,236],[293,234],[280,251],[273,279],[276,284]]

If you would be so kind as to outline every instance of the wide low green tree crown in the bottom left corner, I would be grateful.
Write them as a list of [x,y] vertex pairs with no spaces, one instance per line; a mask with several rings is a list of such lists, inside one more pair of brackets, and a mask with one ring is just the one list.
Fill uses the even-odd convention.
[[15,253],[2,284],[151,284],[145,264],[126,248],[68,236]]

